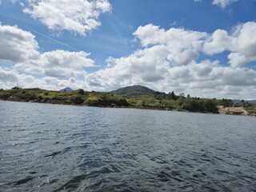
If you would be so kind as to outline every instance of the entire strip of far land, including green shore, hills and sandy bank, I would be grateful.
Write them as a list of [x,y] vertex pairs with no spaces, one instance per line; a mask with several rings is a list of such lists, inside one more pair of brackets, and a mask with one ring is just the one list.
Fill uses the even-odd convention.
[[169,94],[150,90],[146,86],[126,86],[110,92],[71,90],[22,89],[0,90],[0,99],[14,102],[39,102],[61,105],[126,107],[149,110],[175,110],[212,114],[256,116],[256,105],[241,100],[197,98],[190,94]]

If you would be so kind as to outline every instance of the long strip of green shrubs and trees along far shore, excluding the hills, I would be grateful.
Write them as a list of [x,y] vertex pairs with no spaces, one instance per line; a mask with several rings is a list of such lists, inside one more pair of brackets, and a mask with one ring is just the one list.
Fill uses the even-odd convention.
[[18,102],[42,102],[66,105],[108,106],[108,107],[134,107],[159,110],[186,110],[193,112],[218,113],[218,106],[244,106],[252,105],[242,100],[234,104],[231,99],[209,99],[191,97],[190,94],[178,94],[174,91],[169,94],[155,92],[141,96],[122,96],[105,92],[85,91],[82,89],[70,92],[59,92],[40,89],[21,89],[14,87],[11,90],[0,90],[0,99]]

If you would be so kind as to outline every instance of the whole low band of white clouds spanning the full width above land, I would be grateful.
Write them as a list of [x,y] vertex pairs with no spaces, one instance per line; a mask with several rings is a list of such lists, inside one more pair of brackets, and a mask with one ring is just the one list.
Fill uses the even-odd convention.
[[[70,86],[107,91],[141,84],[205,98],[254,98],[256,70],[248,64],[256,62],[256,22],[234,29],[232,33],[218,29],[208,34],[181,28],[165,30],[153,24],[139,26],[134,31],[134,38],[141,43],[138,50],[126,57],[110,57],[106,67],[88,73],[87,67],[95,66],[89,53],[39,53],[38,42],[29,31],[0,26],[4,39],[0,53],[6,51],[0,59],[13,63],[0,67],[0,87],[18,83],[52,90]],[[215,54],[226,54],[228,62],[211,59]]]

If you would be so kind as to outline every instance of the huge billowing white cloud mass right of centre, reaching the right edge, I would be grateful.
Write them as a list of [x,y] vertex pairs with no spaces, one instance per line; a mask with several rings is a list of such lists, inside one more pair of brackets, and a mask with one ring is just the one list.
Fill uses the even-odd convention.
[[[247,34],[247,30],[250,33]],[[256,71],[244,66],[254,56],[254,51],[247,53],[244,50],[248,46],[253,48],[254,37],[250,37],[250,42],[239,40],[244,38],[244,34],[254,34],[253,31],[254,23],[239,25],[233,34],[228,34],[226,30],[206,34],[175,28],[164,30],[152,24],[140,26],[134,36],[140,40],[141,49],[127,57],[109,58],[105,69],[86,75],[86,87],[92,90],[114,90],[141,84],[154,90],[175,90],[199,97],[214,95],[232,98],[237,95],[243,98],[248,93],[247,98],[253,98]],[[242,42],[246,46],[241,45]],[[193,51],[194,55],[185,54]],[[228,57],[232,67],[219,61],[197,61],[202,52],[213,55],[223,51],[230,51]],[[238,64],[235,66],[232,57],[237,58],[238,53],[243,53],[245,61],[236,60]],[[250,93],[245,87],[252,89]]]

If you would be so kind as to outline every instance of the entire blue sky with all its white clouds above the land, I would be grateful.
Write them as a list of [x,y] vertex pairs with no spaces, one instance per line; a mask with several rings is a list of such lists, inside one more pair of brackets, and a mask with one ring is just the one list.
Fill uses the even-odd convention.
[[256,99],[255,0],[0,0],[0,89]]

